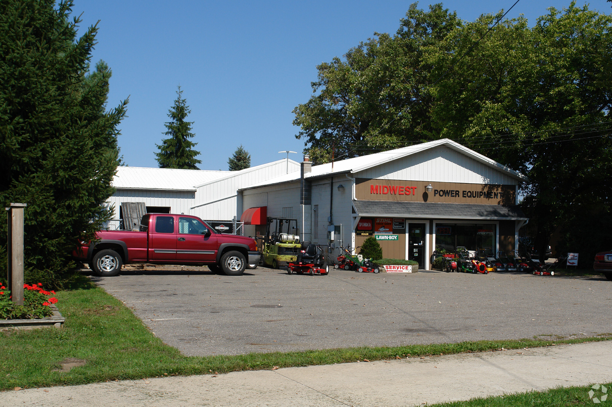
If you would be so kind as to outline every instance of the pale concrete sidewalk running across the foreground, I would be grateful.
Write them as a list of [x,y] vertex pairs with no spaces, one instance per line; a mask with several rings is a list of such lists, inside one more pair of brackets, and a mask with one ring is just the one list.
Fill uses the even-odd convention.
[[[612,381],[612,341],[8,391],[24,406],[414,406]],[[147,382],[149,384],[147,384]]]

